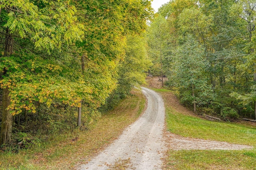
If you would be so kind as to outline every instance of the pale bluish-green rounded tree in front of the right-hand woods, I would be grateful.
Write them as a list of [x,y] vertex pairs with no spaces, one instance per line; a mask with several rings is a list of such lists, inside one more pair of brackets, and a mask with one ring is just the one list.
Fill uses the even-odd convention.
[[204,106],[214,100],[212,88],[207,84],[207,67],[204,48],[188,35],[184,44],[174,51],[169,78],[178,88],[181,101],[191,102],[194,112],[196,105]]

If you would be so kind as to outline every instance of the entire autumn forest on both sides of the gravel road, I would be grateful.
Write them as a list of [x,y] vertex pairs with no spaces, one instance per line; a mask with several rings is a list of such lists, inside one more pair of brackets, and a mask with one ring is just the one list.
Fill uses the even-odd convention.
[[253,0],[0,0],[0,146],[88,130],[147,73],[196,113],[256,119],[255,23]]

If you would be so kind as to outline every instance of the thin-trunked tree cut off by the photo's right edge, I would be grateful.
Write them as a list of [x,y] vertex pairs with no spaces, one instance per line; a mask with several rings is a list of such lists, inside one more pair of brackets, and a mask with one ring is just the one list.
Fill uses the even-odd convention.
[[[243,72],[251,75],[252,83],[247,92],[233,92],[232,96],[237,100],[242,101],[243,106],[248,105],[249,102],[254,102],[254,119],[256,119],[256,96],[255,96],[255,85],[256,85],[256,68],[255,68],[255,26],[256,26],[256,1],[244,1],[239,0],[232,6],[232,15],[236,19],[240,19],[245,22],[243,26],[247,28],[248,35],[247,41],[245,42],[244,52],[248,55],[244,56],[244,62],[240,64],[240,68]],[[238,20],[239,21],[239,20]],[[242,22],[240,21],[240,22]]]

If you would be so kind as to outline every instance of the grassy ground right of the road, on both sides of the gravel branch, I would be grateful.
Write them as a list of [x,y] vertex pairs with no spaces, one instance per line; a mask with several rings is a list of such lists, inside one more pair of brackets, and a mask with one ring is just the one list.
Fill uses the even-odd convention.
[[[164,99],[166,126],[183,137],[225,141],[256,147],[256,127],[246,123],[214,122],[201,119],[182,107],[170,90],[154,89]],[[252,150],[169,150],[164,169],[254,170],[256,149]]]

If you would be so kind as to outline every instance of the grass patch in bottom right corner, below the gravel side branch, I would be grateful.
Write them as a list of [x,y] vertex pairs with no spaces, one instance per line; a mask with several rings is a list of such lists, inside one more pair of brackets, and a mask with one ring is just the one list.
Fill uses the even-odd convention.
[[256,150],[172,150],[168,152],[166,169],[256,170],[255,152]]

